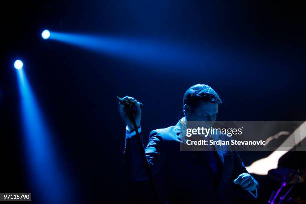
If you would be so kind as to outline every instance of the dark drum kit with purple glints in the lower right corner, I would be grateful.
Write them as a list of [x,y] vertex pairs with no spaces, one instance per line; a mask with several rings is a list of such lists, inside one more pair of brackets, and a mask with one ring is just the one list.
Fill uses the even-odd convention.
[[274,190],[268,201],[269,204],[283,203],[306,203],[306,190],[299,195],[291,195],[290,192],[296,184],[303,183],[306,180],[306,168],[288,169],[277,168],[268,172],[268,175],[281,182],[278,190]]

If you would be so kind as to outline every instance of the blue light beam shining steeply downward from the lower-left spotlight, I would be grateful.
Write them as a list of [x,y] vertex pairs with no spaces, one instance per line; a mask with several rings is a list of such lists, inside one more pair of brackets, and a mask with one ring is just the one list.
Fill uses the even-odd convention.
[[37,203],[75,203],[54,141],[23,69],[17,70],[23,123],[23,143],[30,186]]

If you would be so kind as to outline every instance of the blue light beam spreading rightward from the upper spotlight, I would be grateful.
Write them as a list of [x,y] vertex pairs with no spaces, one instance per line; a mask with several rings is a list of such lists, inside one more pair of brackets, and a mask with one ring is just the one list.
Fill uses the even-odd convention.
[[106,37],[53,32],[50,39],[118,56],[132,61],[174,67],[198,67],[207,54],[197,46],[177,46],[175,43],[127,37]]

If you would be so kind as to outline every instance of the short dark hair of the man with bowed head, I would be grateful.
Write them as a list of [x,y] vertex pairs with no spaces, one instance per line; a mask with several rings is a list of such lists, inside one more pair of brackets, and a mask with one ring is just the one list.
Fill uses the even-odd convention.
[[221,104],[222,100],[219,95],[205,84],[196,84],[191,86],[184,94],[184,105],[196,108],[200,102],[212,102]]

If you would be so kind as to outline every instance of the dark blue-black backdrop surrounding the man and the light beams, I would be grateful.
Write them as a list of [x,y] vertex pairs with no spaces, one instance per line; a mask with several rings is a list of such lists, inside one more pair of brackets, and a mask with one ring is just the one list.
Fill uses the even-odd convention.
[[[300,2],[300,3],[299,3]],[[81,202],[134,199],[146,188],[128,182],[125,125],[116,96],[141,101],[145,141],[175,125],[184,91],[212,86],[224,104],[218,120],[306,120],[305,6],[269,0],[11,0],[1,5],[0,192],[31,192],[13,61],[21,57],[44,118],[58,141]],[[201,66],[136,63],[43,40],[60,32],[162,39],[207,48]],[[188,60],[186,58],[186,60]],[[248,165],[269,152],[242,152]],[[304,166],[293,152],[283,166]],[[3,164],[3,165],[2,165]],[[261,200],[279,183],[256,176]],[[145,185],[145,184],[143,184]],[[127,190],[128,189],[128,190]],[[128,193],[128,192],[131,193]],[[129,198],[127,198],[129,197]]]

